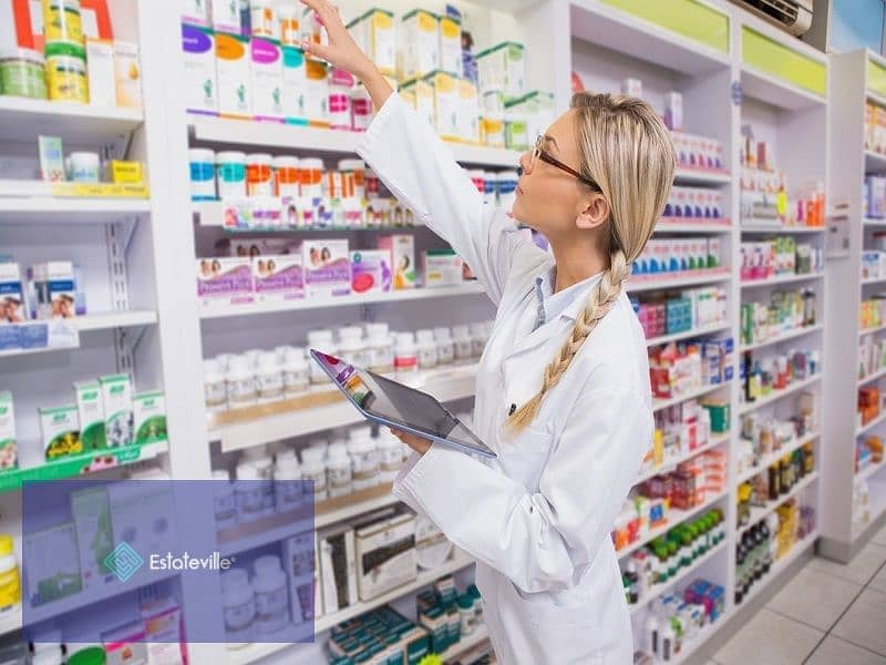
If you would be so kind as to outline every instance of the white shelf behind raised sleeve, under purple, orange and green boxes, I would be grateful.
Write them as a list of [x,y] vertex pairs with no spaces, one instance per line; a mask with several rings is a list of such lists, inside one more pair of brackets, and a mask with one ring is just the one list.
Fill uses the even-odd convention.
[[[222,117],[189,117],[194,141],[213,145],[265,146],[277,151],[291,150],[305,153],[353,154],[363,137],[359,132],[301,127],[279,123]],[[516,168],[521,152],[447,143],[453,155],[464,164]]]

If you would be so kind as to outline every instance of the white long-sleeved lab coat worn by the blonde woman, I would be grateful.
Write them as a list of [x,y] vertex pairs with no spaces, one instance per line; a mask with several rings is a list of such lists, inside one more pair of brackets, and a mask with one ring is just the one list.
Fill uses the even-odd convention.
[[[396,94],[358,150],[418,219],[449,241],[497,306],[480,361],[474,431],[481,462],[434,444],[394,493],[476,557],[484,618],[506,665],[629,665],[630,616],[609,536],[652,437],[642,329],[626,294],[591,332],[532,426],[508,434],[596,279],[532,331],[536,277],[553,257],[503,211],[484,206],[450,150]],[[529,321],[527,326],[526,321]],[[524,328],[524,326],[527,326]]]

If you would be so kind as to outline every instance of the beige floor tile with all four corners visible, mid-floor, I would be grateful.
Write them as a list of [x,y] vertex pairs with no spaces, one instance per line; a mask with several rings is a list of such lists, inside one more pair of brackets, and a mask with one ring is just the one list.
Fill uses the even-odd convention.
[[769,603],[769,608],[830,631],[863,586],[820,571],[803,569]]

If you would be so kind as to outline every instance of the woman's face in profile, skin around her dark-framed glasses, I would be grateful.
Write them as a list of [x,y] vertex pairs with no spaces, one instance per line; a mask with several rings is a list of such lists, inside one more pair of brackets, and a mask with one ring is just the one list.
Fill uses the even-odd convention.
[[[544,149],[553,157],[579,171],[578,136],[575,112],[567,111],[548,127]],[[523,175],[517,181],[517,196],[512,214],[517,222],[557,236],[575,231],[576,218],[587,206],[589,190],[574,176],[556,166],[536,160],[533,151],[519,158]]]

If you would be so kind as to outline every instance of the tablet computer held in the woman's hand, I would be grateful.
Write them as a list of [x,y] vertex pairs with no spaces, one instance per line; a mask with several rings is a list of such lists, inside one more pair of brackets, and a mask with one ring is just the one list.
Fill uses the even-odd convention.
[[348,365],[341,358],[317,349],[311,349],[310,354],[367,420],[439,441],[468,454],[496,457],[474,432],[426,392]]

